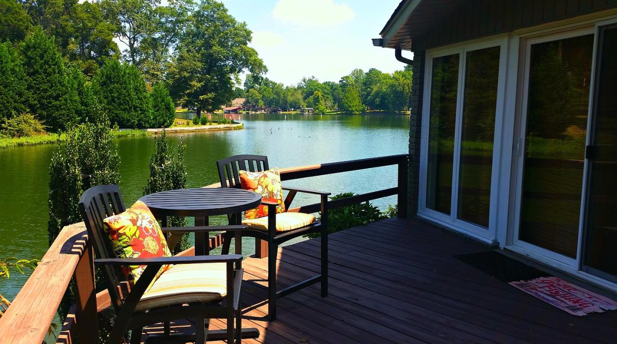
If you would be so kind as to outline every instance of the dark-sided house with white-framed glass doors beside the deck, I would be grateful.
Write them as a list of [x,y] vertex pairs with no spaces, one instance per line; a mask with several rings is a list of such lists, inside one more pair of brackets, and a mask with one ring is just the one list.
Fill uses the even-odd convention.
[[413,65],[410,212],[617,290],[617,1],[404,0],[373,44]]

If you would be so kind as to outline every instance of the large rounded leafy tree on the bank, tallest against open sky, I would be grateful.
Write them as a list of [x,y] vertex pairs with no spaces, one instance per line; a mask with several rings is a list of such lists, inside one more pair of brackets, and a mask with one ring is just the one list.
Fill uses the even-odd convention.
[[204,0],[191,15],[178,53],[168,70],[172,97],[201,111],[220,109],[234,96],[239,73],[260,75],[266,68],[248,46],[251,30],[239,23],[221,2]]

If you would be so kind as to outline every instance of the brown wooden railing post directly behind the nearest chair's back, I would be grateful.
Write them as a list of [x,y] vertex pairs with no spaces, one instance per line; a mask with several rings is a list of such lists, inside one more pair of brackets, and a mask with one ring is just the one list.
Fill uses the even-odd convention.
[[96,288],[94,284],[94,255],[92,245],[86,243],[83,254],[73,274],[75,298],[77,299],[77,330],[80,343],[99,342],[99,320],[96,309]]

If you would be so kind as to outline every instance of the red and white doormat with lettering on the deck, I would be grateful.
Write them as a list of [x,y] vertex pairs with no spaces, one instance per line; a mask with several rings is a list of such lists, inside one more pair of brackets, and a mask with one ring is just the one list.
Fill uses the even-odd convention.
[[510,282],[510,285],[575,316],[617,309],[616,301],[559,277],[540,277],[531,281]]

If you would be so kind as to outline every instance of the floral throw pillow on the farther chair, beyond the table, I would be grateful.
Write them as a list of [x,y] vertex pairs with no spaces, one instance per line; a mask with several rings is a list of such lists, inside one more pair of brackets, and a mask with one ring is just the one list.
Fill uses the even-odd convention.
[[[262,200],[277,202],[277,214],[285,212],[283,186],[281,185],[281,174],[278,168],[262,172],[239,171],[239,174],[242,189],[257,192],[257,194],[262,195]],[[264,216],[268,216],[267,205],[259,205],[257,208],[244,212],[246,219],[257,219]]]

